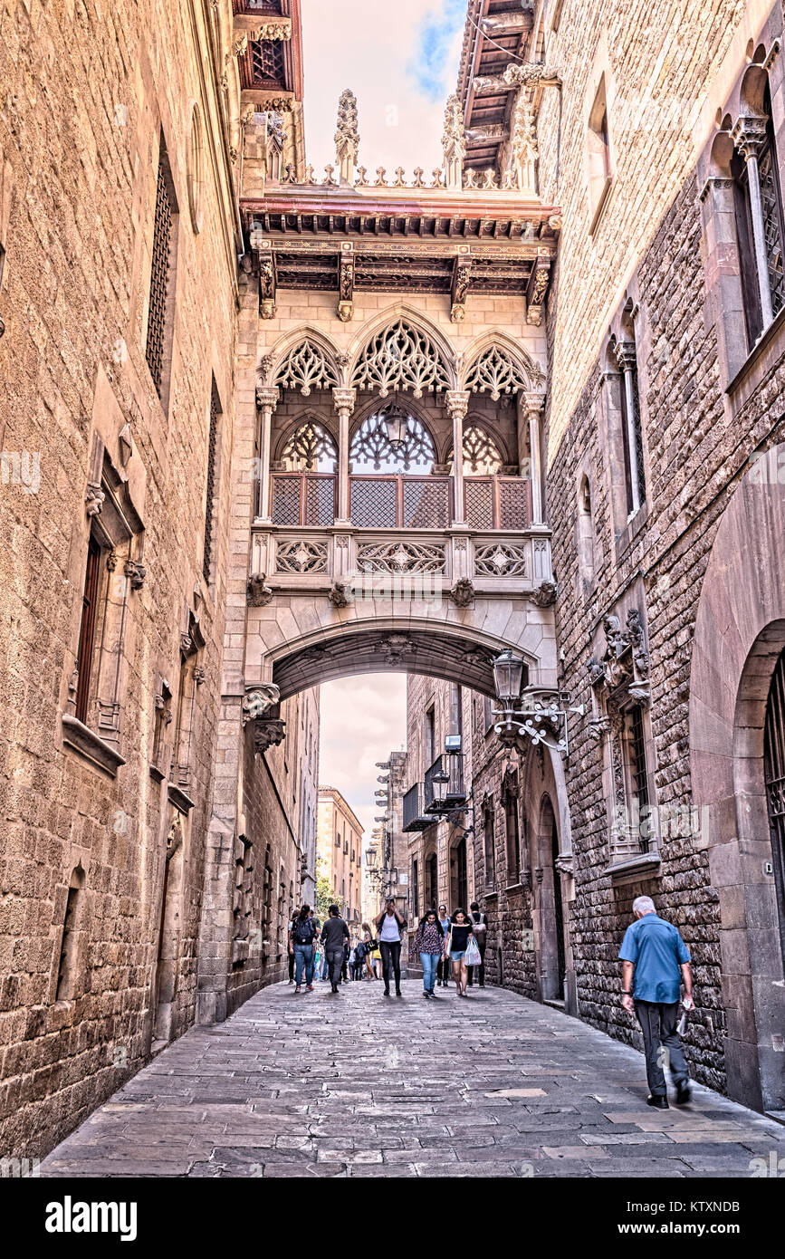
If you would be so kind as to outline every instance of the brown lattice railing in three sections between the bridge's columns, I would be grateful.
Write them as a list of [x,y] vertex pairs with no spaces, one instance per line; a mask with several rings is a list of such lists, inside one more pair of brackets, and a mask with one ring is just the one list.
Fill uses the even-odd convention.
[[[337,515],[337,485],[333,473],[273,472],[273,524],[328,528]],[[348,487],[357,529],[449,529],[453,521],[452,476],[362,475],[351,476]],[[463,499],[470,529],[517,531],[531,522],[531,482],[525,477],[464,477]]]

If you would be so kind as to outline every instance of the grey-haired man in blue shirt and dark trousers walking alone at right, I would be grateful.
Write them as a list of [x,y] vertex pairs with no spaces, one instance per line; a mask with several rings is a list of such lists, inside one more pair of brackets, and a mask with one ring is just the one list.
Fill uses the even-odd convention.
[[650,896],[638,896],[633,913],[635,922],[626,928],[619,949],[621,1005],[629,1013],[635,1011],[643,1031],[650,1090],[647,1102],[658,1110],[667,1110],[665,1063],[673,1073],[677,1102],[682,1104],[691,1098],[689,1073],[676,1030],[681,981],[684,982],[684,1008],[693,1006],[691,959],[678,930],[658,917]]

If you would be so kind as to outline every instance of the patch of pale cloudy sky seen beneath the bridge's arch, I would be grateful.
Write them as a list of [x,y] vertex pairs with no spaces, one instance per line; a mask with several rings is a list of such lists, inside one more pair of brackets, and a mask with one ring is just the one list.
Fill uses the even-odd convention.
[[406,742],[405,674],[364,674],[325,682],[321,697],[322,730],[320,784],[336,787],[362,822],[365,844],[374,817],[374,799],[386,760]]

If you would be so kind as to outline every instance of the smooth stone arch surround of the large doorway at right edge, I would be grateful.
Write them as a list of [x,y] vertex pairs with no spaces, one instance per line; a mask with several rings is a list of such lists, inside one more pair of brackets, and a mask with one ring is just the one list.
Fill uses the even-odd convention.
[[[701,590],[689,679],[691,777],[720,905],[725,1065],[732,1098],[781,1109],[781,940],[764,784],[769,685],[785,647],[785,499],[769,451],[720,522]],[[774,470],[774,475],[770,475]]]

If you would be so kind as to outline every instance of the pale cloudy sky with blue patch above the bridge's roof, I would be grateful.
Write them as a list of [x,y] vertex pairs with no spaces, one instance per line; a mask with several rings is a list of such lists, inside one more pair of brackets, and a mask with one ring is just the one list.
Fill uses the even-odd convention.
[[307,160],[335,164],[338,97],[357,97],[360,165],[426,174],[442,165],[444,102],[454,91],[460,0],[303,0]]

